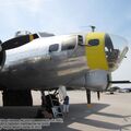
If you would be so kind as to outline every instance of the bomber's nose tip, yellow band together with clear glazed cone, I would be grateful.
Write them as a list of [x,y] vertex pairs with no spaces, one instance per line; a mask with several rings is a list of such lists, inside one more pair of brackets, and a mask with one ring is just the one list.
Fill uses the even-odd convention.
[[115,71],[128,52],[128,41],[106,33],[88,33],[85,37],[87,66],[91,70]]

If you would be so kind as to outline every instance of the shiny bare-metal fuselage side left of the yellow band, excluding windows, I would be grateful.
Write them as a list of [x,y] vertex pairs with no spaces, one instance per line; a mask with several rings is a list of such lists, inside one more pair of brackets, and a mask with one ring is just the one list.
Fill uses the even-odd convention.
[[[72,80],[87,72],[85,47],[61,50],[62,40],[69,36],[38,38],[5,51],[5,63],[0,72],[1,88],[49,90],[70,85]],[[76,40],[76,35],[73,36]],[[58,44],[58,50],[50,51]]]

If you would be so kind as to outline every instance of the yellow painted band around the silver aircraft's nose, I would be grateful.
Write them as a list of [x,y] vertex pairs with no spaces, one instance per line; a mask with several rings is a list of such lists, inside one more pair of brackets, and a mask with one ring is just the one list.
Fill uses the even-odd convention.
[[108,70],[109,68],[105,53],[105,33],[88,33],[85,37],[85,44],[88,45],[88,41],[92,39],[98,39],[99,43],[96,46],[90,45],[85,47],[88,68],[91,70]]

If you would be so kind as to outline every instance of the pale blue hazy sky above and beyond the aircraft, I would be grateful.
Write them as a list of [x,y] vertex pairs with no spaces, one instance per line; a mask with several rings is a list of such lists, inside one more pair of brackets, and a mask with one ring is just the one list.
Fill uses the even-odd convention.
[[[131,0],[0,0],[0,39],[16,31],[49,32],[56,35],[97,32],[120,35],[131,44]],[[131,51],[114,80],[131,80]],[[121,85],[122,87],[131,85]]]

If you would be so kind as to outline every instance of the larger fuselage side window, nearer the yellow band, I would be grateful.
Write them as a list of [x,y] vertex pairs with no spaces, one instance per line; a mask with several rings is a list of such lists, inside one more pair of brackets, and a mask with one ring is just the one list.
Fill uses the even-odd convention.
[[62,41],[62,47],[61,50],[70,50],[70,49],[74,49],[76,44],[76,38],[74,36],[70,36],[69,38],[66,38]]

